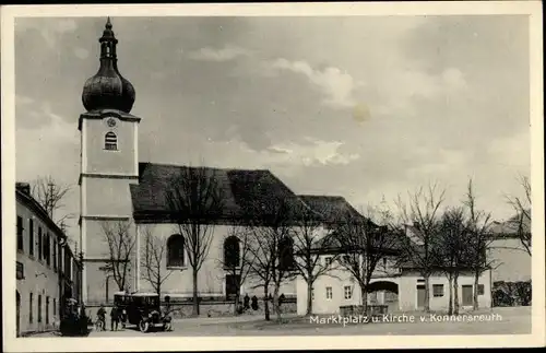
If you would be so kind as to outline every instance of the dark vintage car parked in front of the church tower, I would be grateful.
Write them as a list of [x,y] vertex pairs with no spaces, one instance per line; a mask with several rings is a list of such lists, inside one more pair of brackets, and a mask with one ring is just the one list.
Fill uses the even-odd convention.
[[156,293],[123,293],[114,295],[118,308],[126,313],[121,317],[123,325],[136,325],[141,332],[149,332],[154,328],[170,330],[170,317],[166,316]]

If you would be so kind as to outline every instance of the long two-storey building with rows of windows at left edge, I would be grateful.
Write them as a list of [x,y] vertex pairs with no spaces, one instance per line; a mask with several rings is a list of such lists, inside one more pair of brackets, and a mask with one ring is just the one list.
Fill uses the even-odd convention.
[[16,197],[16,332],[54,328],[67,298],[79,297],[80,262],[66,234],[19,184]]

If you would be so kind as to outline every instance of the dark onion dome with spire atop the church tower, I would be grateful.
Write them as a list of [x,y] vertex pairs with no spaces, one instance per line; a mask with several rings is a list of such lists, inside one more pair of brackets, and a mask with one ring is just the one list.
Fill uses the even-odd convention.
[[98,72],[85,81],[82,102],[87,111],[117,109],[130,113],[134,104],[134,87],[118,70],[116,45],[118,39],[111,31],[110,17],[106,22],[100,43],[100,67]]

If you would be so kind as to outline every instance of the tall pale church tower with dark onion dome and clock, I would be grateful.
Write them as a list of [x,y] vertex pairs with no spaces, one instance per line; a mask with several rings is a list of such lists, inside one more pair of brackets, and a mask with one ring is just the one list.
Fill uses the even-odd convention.
[[[130,225],[129,185],[139,179],[139,123],[130,114],[135,92],[118,70],[116,39],[110,19],[100,44],[98,72],[82,93],[86,111],[80,116],[80,244],[83,252],[82,299],[94,305],[111,299],[118,291],[108,259],[107,233]],[[131,231],[132,232],[132,231]],[[127,287],[132,276],[127,275]],[[107,293],[109,292],[109,293]]]

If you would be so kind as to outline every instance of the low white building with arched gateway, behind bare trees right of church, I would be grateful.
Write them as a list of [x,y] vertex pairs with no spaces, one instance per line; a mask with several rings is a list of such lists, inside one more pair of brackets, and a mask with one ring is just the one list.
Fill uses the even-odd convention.
[[[321,256],[320,261],[332,263],[329,273],[319,276],[311,294],[312,314],[340,314],[343,306],[361,305],[358,281],[343,264],[330,262],[332,255]],[[394,258],[384,257],[377,266],[368,287],[368,305],[388,306],[389,313],[423,310],[425,307],[425,279],[417,269],[399,267]],[[460,308],[473,306],[474,274],[462,271],[458,281]],[[491,270],[482,273],[478,281],[478,305],[491,307]],[[307,313],[307,282],[297,278],[297,313]],[[449,281],[444,273],[435,271],[429,278],[429,306],[431,310],[449,307]]]

